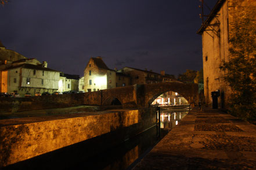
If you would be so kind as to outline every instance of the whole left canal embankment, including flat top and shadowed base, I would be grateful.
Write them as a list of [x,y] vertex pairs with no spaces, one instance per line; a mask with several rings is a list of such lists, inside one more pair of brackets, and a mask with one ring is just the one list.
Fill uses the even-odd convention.
[[[94,148],[91,153],[95,154],[155,126],[156,119],[156,108],[2,119],[0,167],[8,168],[8,165],[15,164],[18,167],[33,167],[38,162],[42,164],[41,158],[44,160],[44,155],[56,157],[63,148],[72,154],[74,147],[82,149],[82,143],[89,139],[94,141],[91,140],[90,145],[86,146]],[[84,153],[86,154],[86,150]]]

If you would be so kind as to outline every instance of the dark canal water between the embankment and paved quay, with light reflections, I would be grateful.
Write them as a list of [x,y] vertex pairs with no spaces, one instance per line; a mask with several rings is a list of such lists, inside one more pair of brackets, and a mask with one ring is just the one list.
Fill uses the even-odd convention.
[[[188,110],[161,110],[161,135],[154,126],[120,145],[107,149],[103,153],[82,160],[72,166],[82,169],[132,169],[149,151],[178,125]],[[67,168],[68,169],[68,168]]]

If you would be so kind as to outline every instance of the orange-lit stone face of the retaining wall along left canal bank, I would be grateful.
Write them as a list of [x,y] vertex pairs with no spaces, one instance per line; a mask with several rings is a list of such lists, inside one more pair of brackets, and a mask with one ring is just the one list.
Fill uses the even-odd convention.
[[[48,116],[45,119],[49,117],[51,118]],[[0,120],[0,124],[4,121],[6,120]],[[93,116],[80,114],[78,117],[39,122],[35,122],[37,120],[34,117],[31,121],[33,122],[0,127],[0,167],[104,134],[109,134],[113,143],[124,141],[155,125],[156,110],[143,108]]]

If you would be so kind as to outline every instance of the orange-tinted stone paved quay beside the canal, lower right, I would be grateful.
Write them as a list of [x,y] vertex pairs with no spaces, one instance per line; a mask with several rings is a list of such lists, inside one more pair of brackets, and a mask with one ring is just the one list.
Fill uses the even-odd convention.
[[256,169],[256,125],[221,110],[193,110],[137,169]]

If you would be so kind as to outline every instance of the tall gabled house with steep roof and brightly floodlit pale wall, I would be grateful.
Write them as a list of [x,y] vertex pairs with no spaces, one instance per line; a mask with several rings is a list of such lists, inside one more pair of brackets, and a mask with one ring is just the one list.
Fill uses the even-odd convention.
[[84,91],[116,87],[116,71],[109,69],[102,57],[91,58],[84,70]]

